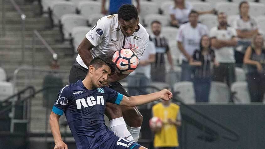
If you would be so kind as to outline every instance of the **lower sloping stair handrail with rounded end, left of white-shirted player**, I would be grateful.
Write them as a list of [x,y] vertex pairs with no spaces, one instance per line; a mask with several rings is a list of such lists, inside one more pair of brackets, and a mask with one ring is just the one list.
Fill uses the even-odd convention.
[[55,51],[50,47],[50,45],[46,42],[46,40],[40,35],[40,33],[35,29],[33,31],[33,42],[32,42],[32,67],[35,67],[35,53],[36,53],[36,38],[41,41],[41,43],[46,47],[46,49],[51,53],[52,58],[57,60],[58,55]]

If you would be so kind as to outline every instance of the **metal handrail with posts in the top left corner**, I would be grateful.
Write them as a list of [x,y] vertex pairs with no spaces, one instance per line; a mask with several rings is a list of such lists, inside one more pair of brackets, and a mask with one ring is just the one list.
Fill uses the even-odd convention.
[[25,59],[25,21],[26,15],[21,11],[19,5],[14,0],[2,0],[2,34],[5,37],[5,1],[9,1],[12,6],[16,9],[21,17],[21,60],[22,64],[24,63]]

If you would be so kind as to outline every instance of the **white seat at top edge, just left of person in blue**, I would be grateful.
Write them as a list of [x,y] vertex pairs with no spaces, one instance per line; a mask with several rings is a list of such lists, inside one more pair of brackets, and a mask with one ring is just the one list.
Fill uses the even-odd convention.
[[81,1],[78,3],[77,10],[86,19],[90,19],[95,13],[101,13],[101,3],[97,1]]

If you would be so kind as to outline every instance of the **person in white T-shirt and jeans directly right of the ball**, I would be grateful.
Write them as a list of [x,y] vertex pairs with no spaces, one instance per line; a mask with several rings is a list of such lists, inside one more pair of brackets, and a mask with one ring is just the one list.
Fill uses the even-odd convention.
[[[155,62],[156,47],[152,41],[149,41],[145,49],[145,54],[142,56],[140,63],[134,72],[128,76],[129,94],[132,96],[147,94],[145,88],[139,90],[130,89],[130,86],[147,86],[151,82],[151,64]],[[141,93],[143,92],[143,93]]]

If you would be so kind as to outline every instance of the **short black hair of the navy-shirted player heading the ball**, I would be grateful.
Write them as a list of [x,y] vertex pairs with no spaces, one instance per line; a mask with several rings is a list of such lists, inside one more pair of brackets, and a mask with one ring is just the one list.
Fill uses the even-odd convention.
[[102,67],[103,65],[107,65],[109,66],[111,70],[110,74],[114,74],[116,72],[117,67],[112,61],[112,57],[113,57],[113,54],[109,54],[109,55],[103,54],[103,55],[97,56],[93,58],[93,60],[90,62],[90,65],[95,67],[96,70]]

